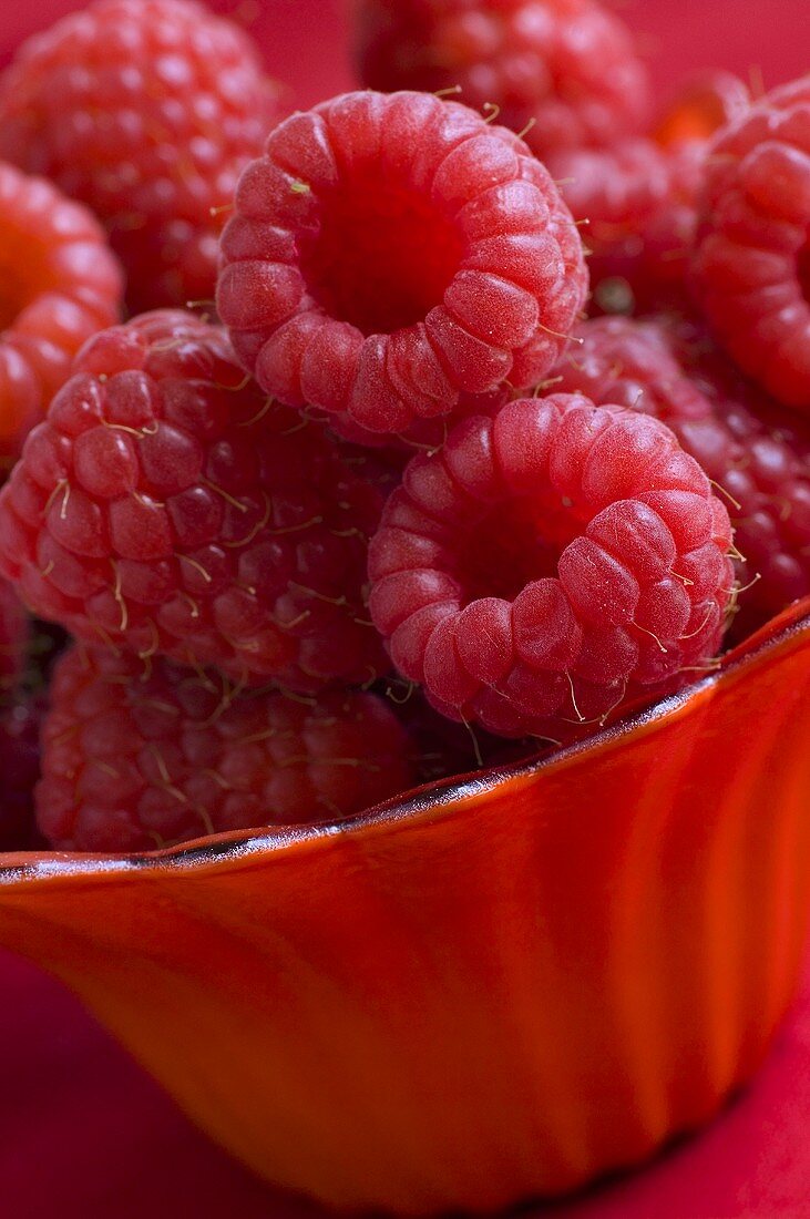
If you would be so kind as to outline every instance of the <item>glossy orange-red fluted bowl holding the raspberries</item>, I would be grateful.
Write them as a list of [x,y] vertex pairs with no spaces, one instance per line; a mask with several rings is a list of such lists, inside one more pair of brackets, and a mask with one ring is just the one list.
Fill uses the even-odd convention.
[[810,602],[585,745],[348,822],[0,857],[0,942],[218,1142],[339,1207],[492,1210],[747,1080],[810,906]]

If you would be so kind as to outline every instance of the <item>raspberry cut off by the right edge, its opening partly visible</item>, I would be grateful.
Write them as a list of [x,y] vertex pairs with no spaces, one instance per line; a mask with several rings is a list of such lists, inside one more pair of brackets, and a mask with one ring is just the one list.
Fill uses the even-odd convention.
[[810,76],[717,134],[692,271],[703,311],[739,367],[810,412]]

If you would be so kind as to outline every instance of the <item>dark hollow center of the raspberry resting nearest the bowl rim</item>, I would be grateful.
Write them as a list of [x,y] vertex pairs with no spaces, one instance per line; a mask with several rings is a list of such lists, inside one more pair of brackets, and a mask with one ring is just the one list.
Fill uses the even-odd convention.
[[470,530],[454,572],[465,602],[479,597],[514,601],[532,580],[557,575],[557,563],[582,525],[566,502],[523,497],[493,505]]

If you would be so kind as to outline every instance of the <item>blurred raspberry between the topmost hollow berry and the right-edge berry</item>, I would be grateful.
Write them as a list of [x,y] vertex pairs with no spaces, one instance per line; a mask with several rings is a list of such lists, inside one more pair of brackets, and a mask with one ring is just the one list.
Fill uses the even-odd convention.
[[588,271],[605,313],[681,304],[696,226],[699,144],[650,139],[572,149],[549,158],[565,202],[587,222]]

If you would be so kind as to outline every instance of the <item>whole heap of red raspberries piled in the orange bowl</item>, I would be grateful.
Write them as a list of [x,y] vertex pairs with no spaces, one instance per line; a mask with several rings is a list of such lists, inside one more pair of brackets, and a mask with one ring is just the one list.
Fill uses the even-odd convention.
[[0,77],[0,847],[333,822],[810,594],[810,77],[597,0],[358,0],[285,117],[191,0]]

